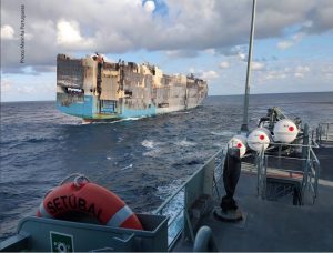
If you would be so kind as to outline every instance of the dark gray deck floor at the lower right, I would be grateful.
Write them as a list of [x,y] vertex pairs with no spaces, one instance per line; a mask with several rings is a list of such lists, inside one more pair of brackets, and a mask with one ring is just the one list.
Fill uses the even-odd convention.
[[[246,219],[228,223],[210,214],[201,223],[212,229],[219,251],[333,251],[333,143],[326,144],[316,151],[325,183],[314,205],[260,200],[256,176],[242,173],[235,199]],[[174,251],[192,245],[180,242]]]

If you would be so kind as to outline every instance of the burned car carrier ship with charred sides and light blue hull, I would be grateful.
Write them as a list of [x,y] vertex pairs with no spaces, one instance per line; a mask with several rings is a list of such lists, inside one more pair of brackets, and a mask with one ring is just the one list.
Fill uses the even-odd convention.
[[138,118],[195,108],[208,83],[193,74],[168,75],[157,65],[105,62],[98,54],[57,57],[57,105],[85,121]]

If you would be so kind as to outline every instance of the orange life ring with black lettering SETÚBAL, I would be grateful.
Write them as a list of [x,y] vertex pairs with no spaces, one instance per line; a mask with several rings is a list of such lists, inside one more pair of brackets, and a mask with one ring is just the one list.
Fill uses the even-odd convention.
[[103,225],[143,230],[137,215],[118,195],[89,181],[75,181],[48,193],[37,216],[57,219],[70,213],[85,213]]

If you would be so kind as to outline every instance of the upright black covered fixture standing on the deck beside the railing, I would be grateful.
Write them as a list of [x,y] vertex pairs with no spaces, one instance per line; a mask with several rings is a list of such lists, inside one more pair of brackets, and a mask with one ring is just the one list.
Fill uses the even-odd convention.
[[223,168],[223,183],[225,195],[221,200],[221,209],[224,213],[235,212],[238,210],[236,202],[233,199],[235,188],[241,175],[241,158],[240,149],[231,148],[228,150],[224,168]]

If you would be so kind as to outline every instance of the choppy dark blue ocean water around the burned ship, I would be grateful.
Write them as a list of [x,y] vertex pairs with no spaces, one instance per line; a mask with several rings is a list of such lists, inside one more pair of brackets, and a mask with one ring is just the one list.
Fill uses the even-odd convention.
[[[243,97],[209,97],[189,111],[82,124],[56,102],[1,103],[0,240],[33,215],[44,193],[83,173],[135,212],[158,208],[242,123]],[[315,125],[333,121],[333,92],[250,98],[250,126],[270,107]]]

